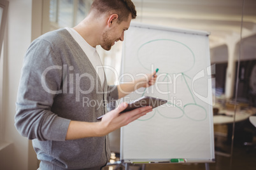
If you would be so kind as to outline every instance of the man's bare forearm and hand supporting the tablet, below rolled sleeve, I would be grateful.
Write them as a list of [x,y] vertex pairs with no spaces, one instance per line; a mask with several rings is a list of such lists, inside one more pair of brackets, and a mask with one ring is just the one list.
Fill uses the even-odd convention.
[[71,121],[66,140],[105,136],[152,111],[152,107],[148,106],[136,108],[129,112],[125,112],[124,114],[120,114],[126,107],[127,103],[121,103],[118,108],[104,115],[101,122]]

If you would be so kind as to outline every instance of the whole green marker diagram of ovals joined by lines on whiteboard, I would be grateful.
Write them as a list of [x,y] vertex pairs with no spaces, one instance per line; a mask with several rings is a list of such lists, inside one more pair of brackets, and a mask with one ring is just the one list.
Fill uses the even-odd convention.
[[[161,53],[160,49],[155,50],[155,48],[160,47],[160,46],[157,46],[157,43],[163,42],[163,41],[172,43],[173,46],[175,46],[175,50],[179,51],[178,56],[176,56],[176,57],[170,56],[172,49],[169,49],[169,53],[167,53],[167,54]],[[164,49],[164,50],[166,50],[166,49]],[[155,57],[154,59],[156,61],[152,63],[152,60],[147,60],[148,53],[150,53],[150,55],[153,55],[153,56],[159,55],[160,57],[159,56]],[[171,64],[165,62],[166,60],[169,60],[170,57],[172,59]],[[191,96],[192,101],[193,101],[192,103],[186,103],[183,107],[179,107],[175,103],[172,103],[169,101],[171,99],[171,95],[168,94],[167,95],[167,98],[168,98],[167,105],[171,105],[171,106],[173,106],[172,108],[176,108],[175,114],[173,114],[172,110],[169,109],[171,107],[168,108],[168,114],[166,114],[166,112],[161,112],[160,108],[155,108],[152,115],[148,114],[148,116],[143,116],[143,117],[139,118],[138,121],[148,121],[148,120],[152,119],[155,116],[155,114],[159,114],[162,117],[167,118],[167,119],[180,119],[181,117],[183,117],[185,115],[186,117],[188,117],[188,119],[190,119],[192,121],[206,120],[207,111],[203,106],[197,104],[196,99],[192,93],[192,89],[190,89],[190,87],[188,86],[188,79],[191,80],[191,77],[189,77],[187,74],[185,74],[185,72],[188,72],[193,69],[195,62],[196,62],[196,58],[195,58],[195,55],[194,55],[192,49],[190,49],[186,44],[179,42],[179,41],[175,41],[175,40],[171,40],[171,39],[155,39],[152,41],[145,42],[138,48],[137,58],[138,58],[139,63],[146,70],[151,70],[151,65],[154,64],[154,66],[156,68],[160,69],[159,70],[160,74],[166,74],[166,76],[164,77],[164,79],[162,81],[165,81],[166,78],[172,73],[173,74],[181,74],[181,79],[184,80],[185,88],[188,90],[188,93],[190,94],[189,96]],[[186,61],[185,64],[183,62],[184,60]],[[146,62],[151,62],[151,63],[146,63]],[[157,65],[156,63],[160,63],[160,64]],[[162,67],[162,65],[164,65],[165,67]],[[163,68],[165,68],[165,69],[167,68],[167,70],[163,70]],[[169,69],[173,69],[173,70],[169,70]],[[184,70],[182,70],[182,69],[184,69]],[[169,84],[166,85],[166,89],[167,89],[167,91],[169,91]],[[143,91],[142,96],[144,96],[145,93],[146,93],[146,88]],[[195,115],[193,115],[195,111],[189,112],[190,110],[196,110],[196,112],[199,112],[200,118],[198,118],[198,117],[196,118]],[[202,116],[202,113],[203,113],[203,116]],[[197,113],[197,115],[198,115],[198,113]]]

